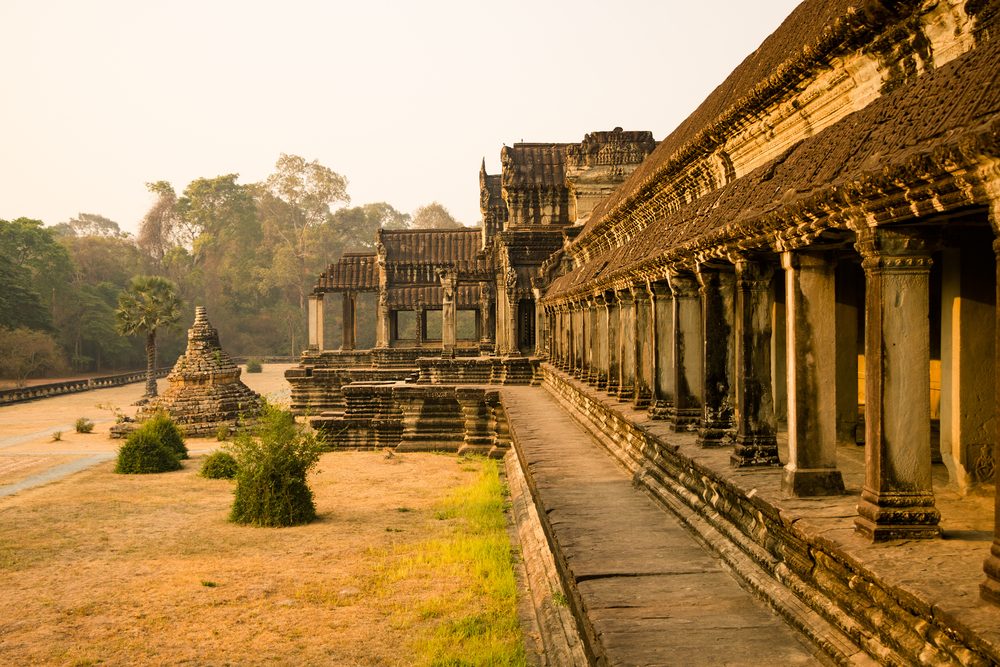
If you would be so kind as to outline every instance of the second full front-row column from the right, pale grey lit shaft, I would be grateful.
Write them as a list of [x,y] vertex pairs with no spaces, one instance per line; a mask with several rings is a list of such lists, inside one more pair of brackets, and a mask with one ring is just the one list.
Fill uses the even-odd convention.
[[837,332],[834,262],[824,253],[784,252],[788,367],[788,464],[793,496],[844,492],[837,470]]

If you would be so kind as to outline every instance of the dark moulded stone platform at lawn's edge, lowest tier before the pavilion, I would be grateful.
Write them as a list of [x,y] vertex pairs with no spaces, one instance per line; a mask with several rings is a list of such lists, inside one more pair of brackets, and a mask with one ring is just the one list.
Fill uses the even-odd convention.
[[352,383],[343,413],[310,420],[331,449],[390,448],[502,458],[510,448],[507,415],[496,390],[483,387]]

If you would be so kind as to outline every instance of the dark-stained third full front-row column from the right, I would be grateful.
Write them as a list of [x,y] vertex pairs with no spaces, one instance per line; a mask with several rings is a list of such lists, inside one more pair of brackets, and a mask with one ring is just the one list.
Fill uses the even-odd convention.
[[774,267],[736,260],[735,468],[777,466],[778,432],[771,396],[771,311]]

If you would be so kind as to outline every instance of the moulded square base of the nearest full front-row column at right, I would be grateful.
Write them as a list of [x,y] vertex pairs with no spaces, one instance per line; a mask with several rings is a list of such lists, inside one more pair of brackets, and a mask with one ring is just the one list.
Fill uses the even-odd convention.
[[940,537],[940,520],[933,493],[878,494],[862,489],[854,529],[872,542],[927,540]]

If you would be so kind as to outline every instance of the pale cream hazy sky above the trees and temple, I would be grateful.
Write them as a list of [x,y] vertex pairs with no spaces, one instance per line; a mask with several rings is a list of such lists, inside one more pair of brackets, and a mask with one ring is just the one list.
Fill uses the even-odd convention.
[[134,231],[147,181],[261,180],[279,153],[352,204],[479,221],[503,143],[662,139],[795,0],[0,0],[0,218]]

